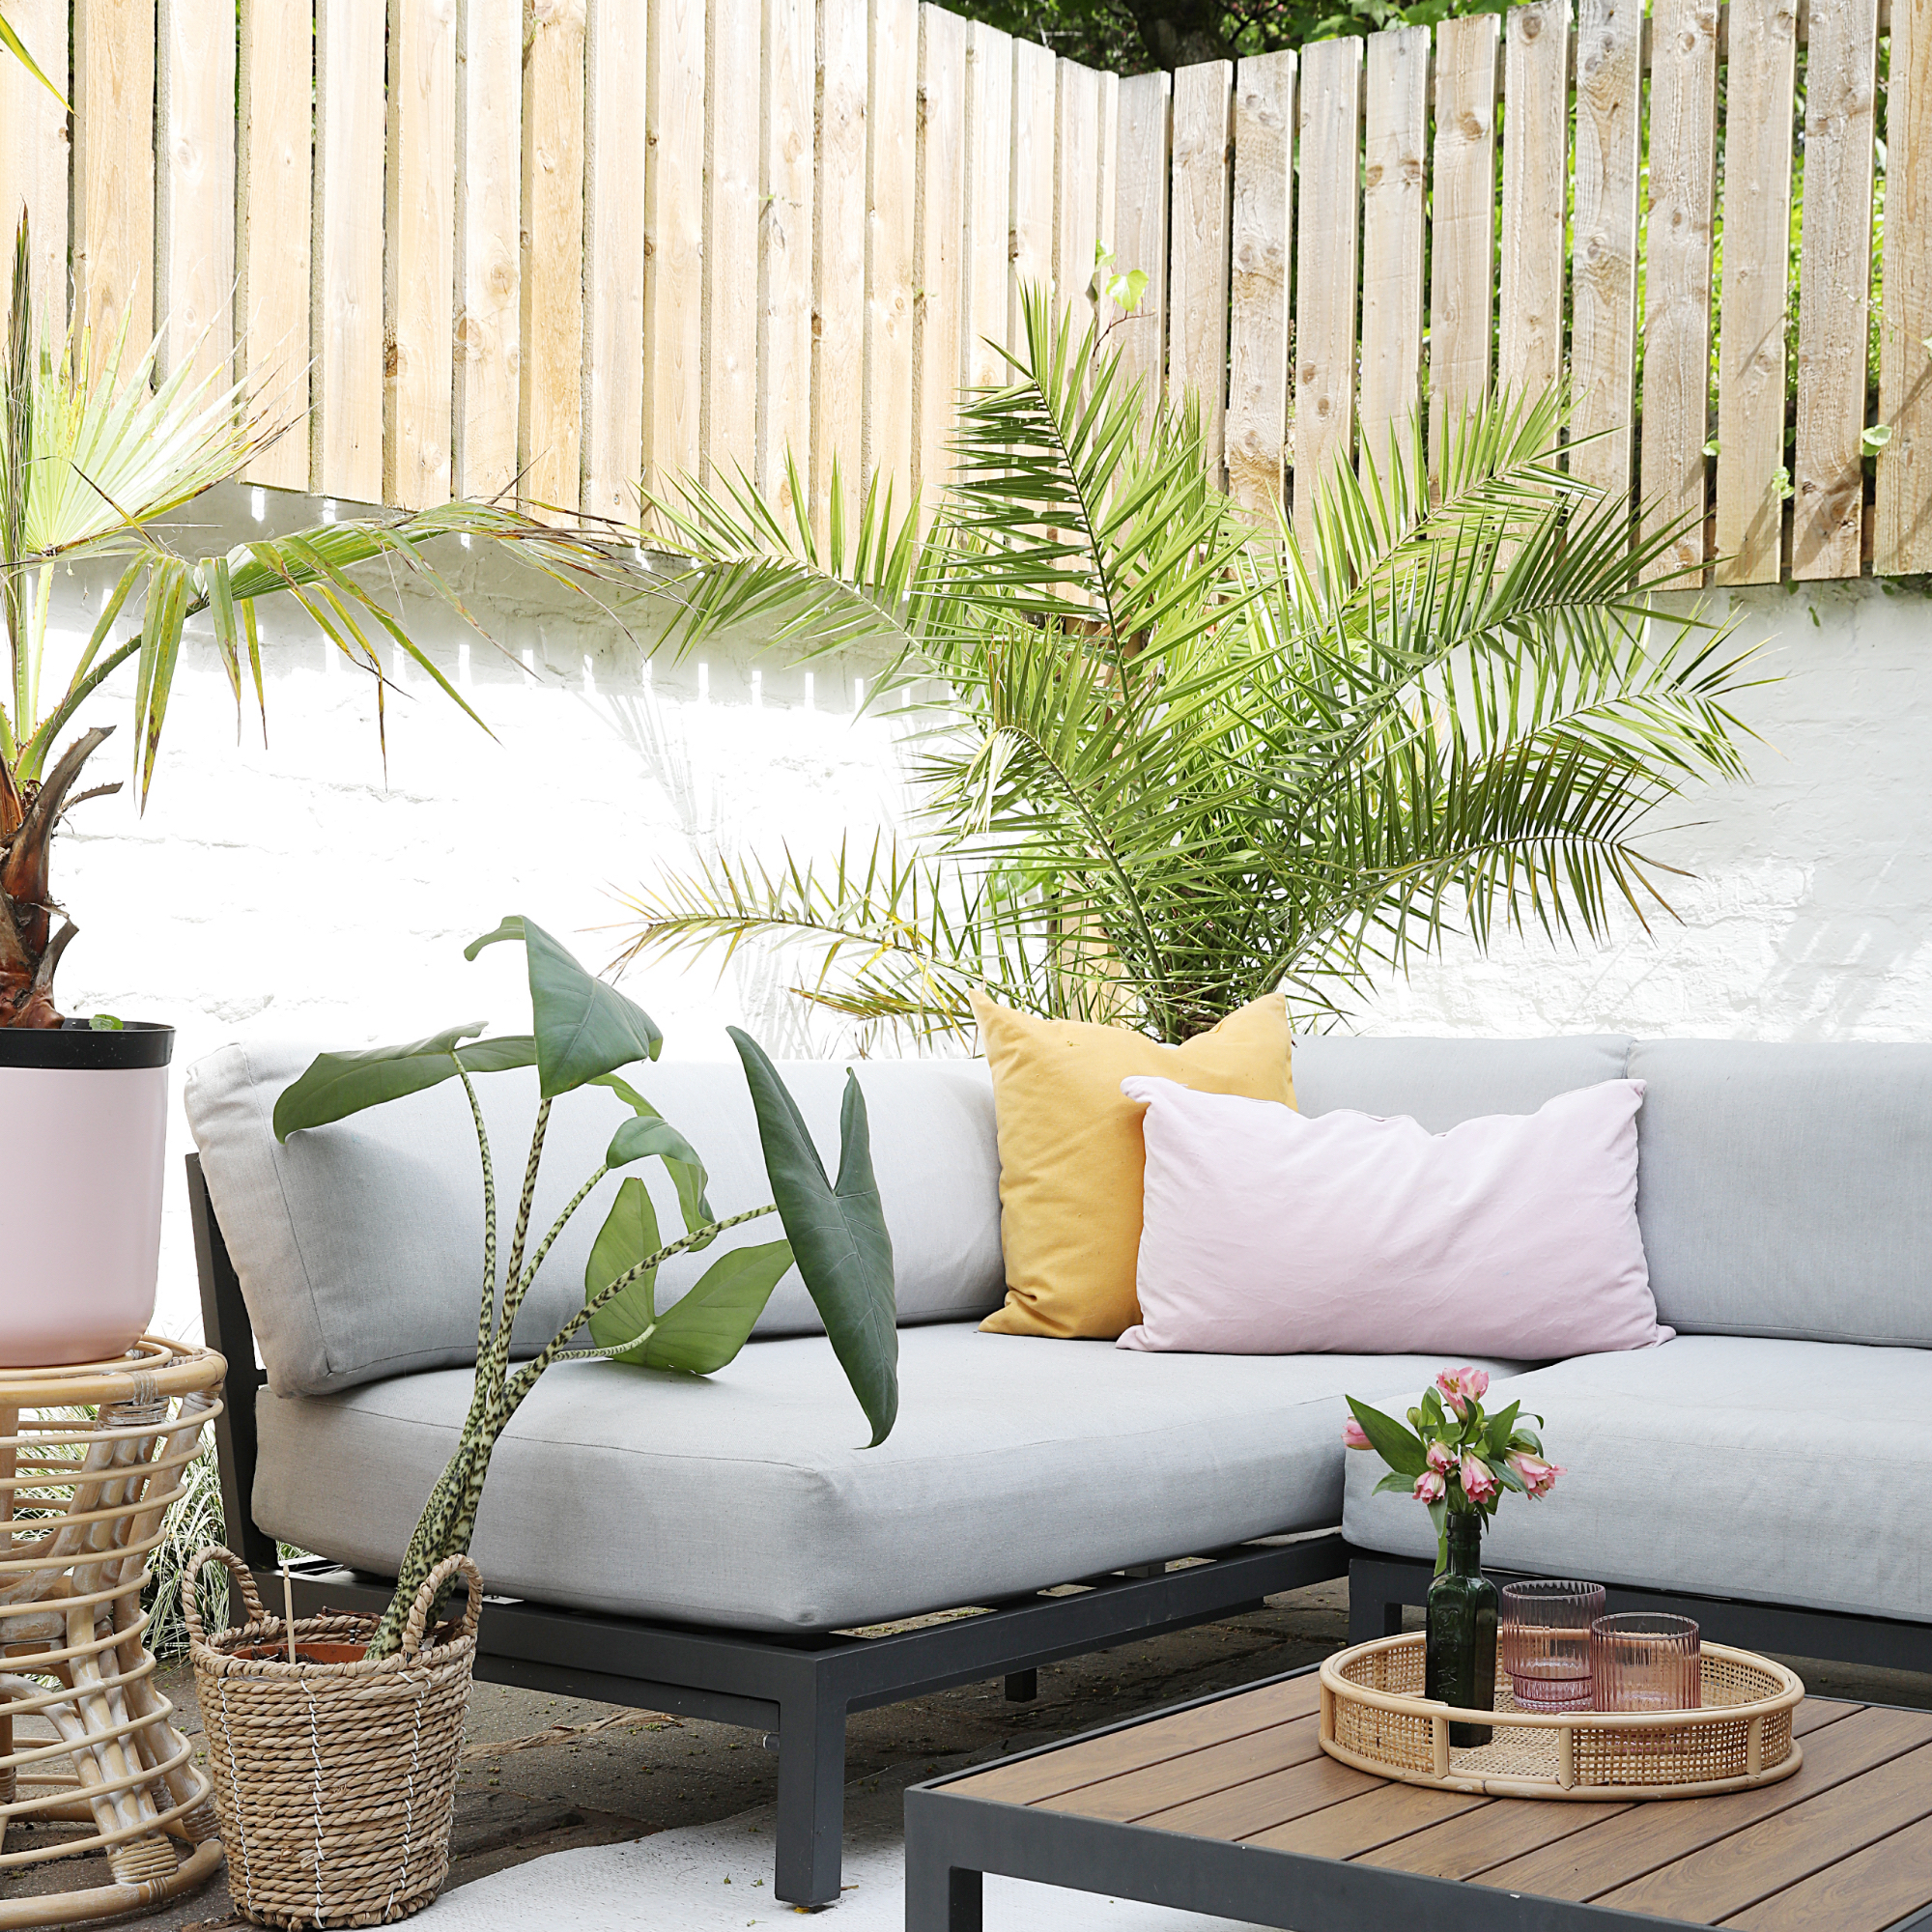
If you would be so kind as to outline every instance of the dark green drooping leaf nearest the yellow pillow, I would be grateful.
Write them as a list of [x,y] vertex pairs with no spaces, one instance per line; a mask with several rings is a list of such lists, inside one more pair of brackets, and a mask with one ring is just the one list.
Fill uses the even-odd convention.
[[893,1294],[893,1236],[871,1173],[866,1095],[846,1072],[838,1109],[838,1180],[811,1144],[804,1115],[779,1068],[746,1032],[728,1028],[757,1107],[757,1138],[779,1219],[852,1393],[871,1424],[871,1447],[893,1434],[898,1414],[898,1327]]

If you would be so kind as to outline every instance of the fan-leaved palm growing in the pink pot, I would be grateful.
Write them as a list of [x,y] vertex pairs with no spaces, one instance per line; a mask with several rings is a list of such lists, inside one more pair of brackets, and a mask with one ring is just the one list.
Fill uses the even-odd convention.
[[[73,790],[114,726],[66,734],[122,665],[131,665],[135,680],[133,782],[145,806],[191,618],[207,614],[211,622],[238,723],[245,668],[267,728],[255,607],[286,593],[371,674],[379,732],[384,638],[481,726],[355,568],[379,562],[390,578],[408,576],[454,605],[433,547],[464,535],[489,537],[558,582],[587,585],[624,574],[616,545],[477,502],[321,524],[220,556],[182,556],[155,533],[155,520],[234,475],[272,425],[240,384],[197,379],[185,357],[156,384],[158,342],[137,359],[126,348],[126,328],[99,355],[79,325],[58,340],[35,334],[23,218],[0,369],[0,614],[8,649],[0,692],[0,1026],[62,1024],[54,970],[75,925],[54,896],[50,840],[75,804],[120,790],[118,782]],[[93,636],[60,663],[58,645],[48,651],[54,564],[75,558],[126,558],[126,566]],[[124,611],[139,612],[141,622],[116,639]]]

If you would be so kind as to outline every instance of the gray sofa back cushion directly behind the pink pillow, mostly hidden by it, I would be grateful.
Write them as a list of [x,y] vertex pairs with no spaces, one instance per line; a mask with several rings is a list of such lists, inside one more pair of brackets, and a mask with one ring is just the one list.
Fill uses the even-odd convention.
[[1631,1041],[1623,1034],[1555,1039],[1304,1034],[1294,1041],[1294,1105],[1302,1113],[1352,1107],[1381,1119],[1406,1115],[1432,1134],[1447,1134],[1451,1126],[1486,1113],[1536,1113],[1557,1094],[1623,1080],[1629,1053]]

